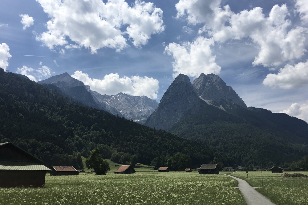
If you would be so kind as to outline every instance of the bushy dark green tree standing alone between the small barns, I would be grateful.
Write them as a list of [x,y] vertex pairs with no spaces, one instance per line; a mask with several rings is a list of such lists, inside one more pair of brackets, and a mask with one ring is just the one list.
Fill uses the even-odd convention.
[[87,168],[94,169],[97,175],[105,175],[107,171],[110,171],[110,164],[99,154],[99,148],[92,150],[90,156],[85,161],[85,165]]

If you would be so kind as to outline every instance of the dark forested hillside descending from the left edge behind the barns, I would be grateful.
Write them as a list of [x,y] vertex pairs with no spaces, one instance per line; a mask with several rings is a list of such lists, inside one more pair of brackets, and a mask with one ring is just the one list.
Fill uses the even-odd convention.
[[81,156],[96,147],[104,159],[124,164],[136,157],[142,164],[161,157],[173,169],[184,166],[182,159],[195,168],[214,159],[233,163],[201,143],[84,106],[48,87],[0,69],[0,142],[13,142],[49,167],[83,168]]

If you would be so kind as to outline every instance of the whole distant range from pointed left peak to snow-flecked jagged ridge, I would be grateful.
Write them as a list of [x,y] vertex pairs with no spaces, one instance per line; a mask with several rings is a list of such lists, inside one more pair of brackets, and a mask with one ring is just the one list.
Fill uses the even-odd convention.
[[128,120],[145,121],[158,105],[155,100],[146,96],[130,96],[124,93],[111,96],[101,95],[68,73],[52,76],[46,80],[38,81],[38,83],[47,87],[49,84],[55,85],[75,101],[122,116]]

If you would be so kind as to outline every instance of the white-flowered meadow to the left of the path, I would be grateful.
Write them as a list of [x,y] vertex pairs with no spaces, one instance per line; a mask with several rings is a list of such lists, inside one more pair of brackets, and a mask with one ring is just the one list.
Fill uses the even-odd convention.
[[198,172],[46,176],[44,188],[2,188],[0,204],[246,204],[237,181]]

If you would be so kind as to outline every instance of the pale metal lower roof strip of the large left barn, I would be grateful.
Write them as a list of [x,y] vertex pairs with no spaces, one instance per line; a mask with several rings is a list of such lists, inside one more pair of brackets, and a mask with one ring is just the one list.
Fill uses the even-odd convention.
[[50,168],[43,164],[30,163],[30,162],[5,162],[0,161],[0,170],[39,170],[51,171]]

